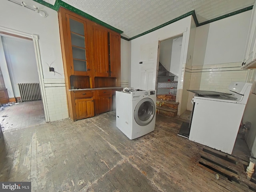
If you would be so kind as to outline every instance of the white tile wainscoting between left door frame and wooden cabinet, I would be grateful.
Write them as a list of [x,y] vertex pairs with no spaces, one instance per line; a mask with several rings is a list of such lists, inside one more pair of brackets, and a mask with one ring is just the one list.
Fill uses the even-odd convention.
[[44,89],[50,122],[68,118],[65,80],[44,79]]

